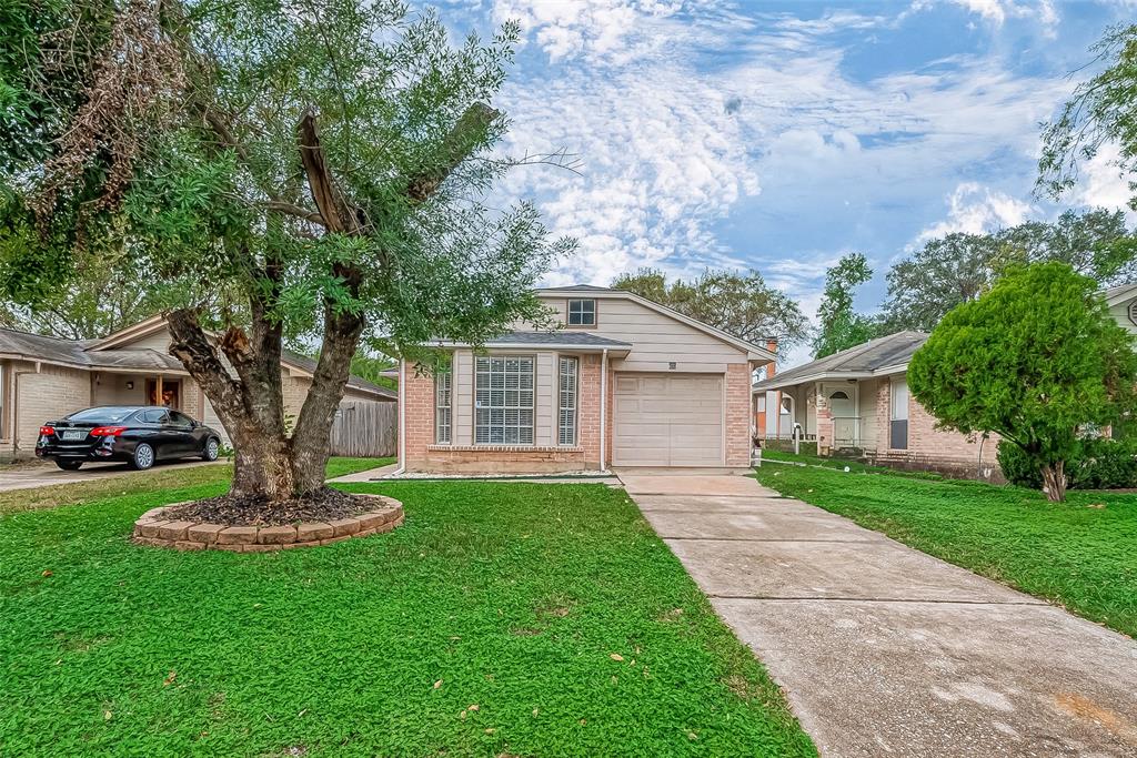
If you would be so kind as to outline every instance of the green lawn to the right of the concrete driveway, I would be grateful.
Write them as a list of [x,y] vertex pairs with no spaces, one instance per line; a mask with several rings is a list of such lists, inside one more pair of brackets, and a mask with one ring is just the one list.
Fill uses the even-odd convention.
[[[844,465],[844,464],[840,464]],[[758,480],[1137,636],[1137,495],[766,464]]]

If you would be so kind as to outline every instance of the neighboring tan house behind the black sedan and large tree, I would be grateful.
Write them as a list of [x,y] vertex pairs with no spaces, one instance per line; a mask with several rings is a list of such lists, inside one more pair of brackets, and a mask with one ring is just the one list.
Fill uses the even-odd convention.
[[[91,406],[164,405],[225,431],[205,393],[169,355],[161,316],[101,340],[63,340],[0,328],[0,459],[34,453],[40,425]],[[285,414],[298,414],[316,363],[285,351]],[[393,402],[396,393],[352,376],[345,401]]]

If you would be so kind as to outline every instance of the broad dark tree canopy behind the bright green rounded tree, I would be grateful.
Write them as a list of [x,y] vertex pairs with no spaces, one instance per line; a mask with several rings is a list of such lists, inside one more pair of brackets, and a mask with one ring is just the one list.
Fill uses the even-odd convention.
[[1053,223],[1027,222],[993,234],[929,240],[888,272],[881,313],[887,332],[930,332],[944,315],[974,300],[1011,266],[1057,260],[1102,286],[1137,282],[1137,238],[1124,213],[1068,210]]

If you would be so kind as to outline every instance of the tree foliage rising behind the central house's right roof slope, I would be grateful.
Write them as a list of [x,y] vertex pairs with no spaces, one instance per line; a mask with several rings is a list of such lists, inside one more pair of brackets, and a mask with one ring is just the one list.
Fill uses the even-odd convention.
[[750,342],[775,339],[779,350],[799,344],[806,336],[806,320],[798,305],[769,286],[757,272],[741,275],[708,269],[690,282],[677,278],[669,283],[662,270],[641,268],[616,277],[612,286]]

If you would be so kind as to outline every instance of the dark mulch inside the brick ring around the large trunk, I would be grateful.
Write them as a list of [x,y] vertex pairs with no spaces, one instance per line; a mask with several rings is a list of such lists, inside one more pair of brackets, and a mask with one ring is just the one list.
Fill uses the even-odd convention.
[[351,518],[374,508],[375,501],[370,498],[324,488],[310,497],[283,502],[272,502],[257,495],[222,494],[171,508],[166,516],[231,526],[283,526]]

